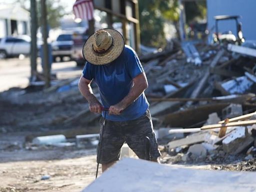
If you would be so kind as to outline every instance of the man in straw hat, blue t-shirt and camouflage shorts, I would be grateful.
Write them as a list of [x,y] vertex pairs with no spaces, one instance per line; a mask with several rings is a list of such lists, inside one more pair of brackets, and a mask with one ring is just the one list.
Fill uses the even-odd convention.
[[[87,62],[79,90],[88,100],[90,111],[101,112],[106,118],[103,133],[100,120],[102,143],[97,148],[97,162],[102,164],[102,171],[119,159],[124,141],[139,158],[145,159],[145,136],[149,137],[151,160],[157,161],[160,152],[144,94],[147,79],[135,51],[124,45],[118,31],[100,29],[86,40],[83,56]],[[92,80],[99,88],[102,104],[93,95]],[[108,112],[102,111],[103,107]]]

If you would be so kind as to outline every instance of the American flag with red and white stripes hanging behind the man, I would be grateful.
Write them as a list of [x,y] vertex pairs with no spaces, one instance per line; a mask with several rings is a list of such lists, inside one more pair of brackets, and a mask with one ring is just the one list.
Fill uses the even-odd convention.
[[93,18],[93,2],[92,0],[76,0],[73,5],[75,18],[82,20],[91,20]]

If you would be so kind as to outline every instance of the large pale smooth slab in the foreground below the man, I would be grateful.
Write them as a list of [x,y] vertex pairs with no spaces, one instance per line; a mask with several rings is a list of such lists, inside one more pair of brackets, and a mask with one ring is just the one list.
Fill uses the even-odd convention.
[[174,168],[141,159],[124,158],[82,192],[247,192],[256,191],[256,173]]

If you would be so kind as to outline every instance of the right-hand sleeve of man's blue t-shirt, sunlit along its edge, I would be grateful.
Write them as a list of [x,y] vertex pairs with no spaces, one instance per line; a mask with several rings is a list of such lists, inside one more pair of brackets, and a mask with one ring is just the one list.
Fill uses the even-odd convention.
[[138,74],[144,72],[138,55],[133,49],[128,49],[126,56],[126,68],[131,78],[134,78]]

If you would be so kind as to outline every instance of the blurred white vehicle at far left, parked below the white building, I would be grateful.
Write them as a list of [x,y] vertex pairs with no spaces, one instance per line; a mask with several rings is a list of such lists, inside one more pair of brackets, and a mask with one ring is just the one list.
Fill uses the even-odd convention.
[[30,38],[28,36],[7,36],[0,38],[0,59],[28,55],[30,53]]

